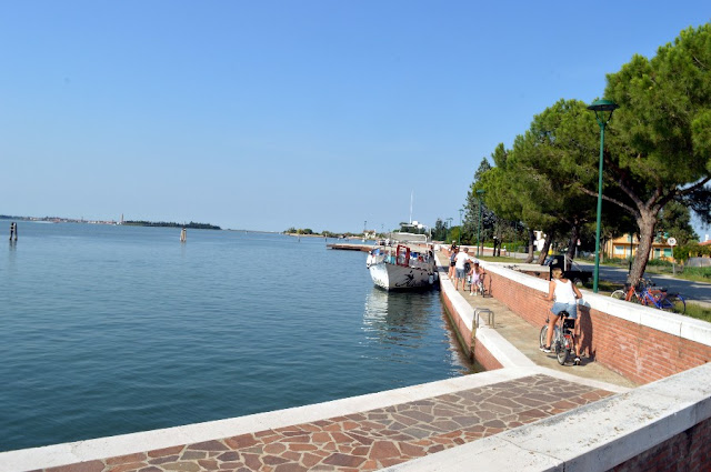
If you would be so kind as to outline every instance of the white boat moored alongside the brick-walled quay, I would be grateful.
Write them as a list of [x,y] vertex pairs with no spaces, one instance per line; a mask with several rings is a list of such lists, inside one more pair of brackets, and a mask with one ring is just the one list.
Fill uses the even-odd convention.
[[373,283],[385,290],[430,289],[438,281],[434,252],[423,234],[392,233],[390,244],[370,251],[365,265]]

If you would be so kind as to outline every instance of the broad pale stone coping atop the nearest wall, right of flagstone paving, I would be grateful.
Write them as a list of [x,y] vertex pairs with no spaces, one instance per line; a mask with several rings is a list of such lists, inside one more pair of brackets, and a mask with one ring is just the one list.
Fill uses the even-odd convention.
[[711,418],[711,364],[479,441],[383,469],[389,472],[608,471]]

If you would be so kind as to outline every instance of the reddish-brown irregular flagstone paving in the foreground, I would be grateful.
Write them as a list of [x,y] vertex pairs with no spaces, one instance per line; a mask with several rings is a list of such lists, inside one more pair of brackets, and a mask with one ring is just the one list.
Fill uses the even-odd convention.
[[43,471],[374,471],[611,394],[538,374],[328,420]]

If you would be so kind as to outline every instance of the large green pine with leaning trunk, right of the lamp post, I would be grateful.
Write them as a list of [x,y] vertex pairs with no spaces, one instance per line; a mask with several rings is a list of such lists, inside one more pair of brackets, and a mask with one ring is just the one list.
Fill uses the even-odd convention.
[[667,204],[684,202],[711,220],[711,24],[682,31],[651,60],[634,56],[608,74],[605,97],[620,109],[605,133],[604,178],[613,187],[603,198],[639,227],[630,272],[637,281]]

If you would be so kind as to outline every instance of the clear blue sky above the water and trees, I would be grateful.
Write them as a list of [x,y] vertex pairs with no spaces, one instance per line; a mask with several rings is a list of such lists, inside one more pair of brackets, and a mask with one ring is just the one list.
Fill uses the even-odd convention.
[[356,232],[407,221],[413,192],[414,220],[457,224],[499,142],[710,19],[683,0],[0,0],[0,213]]

